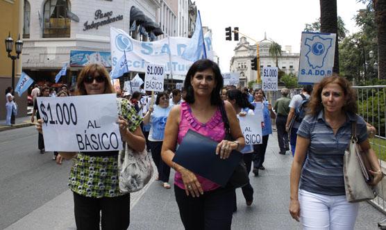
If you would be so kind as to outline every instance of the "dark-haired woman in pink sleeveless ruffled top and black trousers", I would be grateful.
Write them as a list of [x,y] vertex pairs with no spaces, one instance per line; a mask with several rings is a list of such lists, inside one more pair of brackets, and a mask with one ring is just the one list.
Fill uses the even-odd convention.
[[233,149],[244,148],[244,136],[228,101],[224,101],[224,106],[230,135],[235,141],[224,140],[224,122],[219,109],[223,84],[216,63],[208,59],[196,61],[185,78],[185,101],[174,106],[167,119],[161,154],[162,160],[176,170],[174,192],[185,229],[230,229],[232,223],[235,188],[221,188],[171,161],[177,142],[181,143],[189,129],[219,142],[216,153],[222,159],[228,158]]

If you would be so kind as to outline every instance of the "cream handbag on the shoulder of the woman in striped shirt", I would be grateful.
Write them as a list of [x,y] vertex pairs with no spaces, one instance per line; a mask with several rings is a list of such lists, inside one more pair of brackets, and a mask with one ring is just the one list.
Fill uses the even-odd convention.
[[371,181],[369,164],[366,163],[367,156],[362,153],[358,145],[356,135],[356,122],[351,124],[351,140],[348,149],[344,152],[343,174],[344,189],[346,190],[347,202],[362,202],[374,199],[377,192],[374,187],[369,186]]

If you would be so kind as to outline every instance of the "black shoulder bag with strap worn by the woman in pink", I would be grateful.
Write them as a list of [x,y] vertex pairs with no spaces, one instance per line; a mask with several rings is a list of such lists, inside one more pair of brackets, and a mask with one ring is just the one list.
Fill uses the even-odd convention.
[[[221,101],[220,111],[221,111],[221,117],[225,127],[224,140],[233,140],[232,135],[230,135],[229,121],[228,121],[228,116],[226,115],[224,101]],[[234,188],[241,188],[243,186],[246,186],[246,184],[248,183],[249,183],[249,176],[246,172],[246,166],[244,161],[241,160],[240,163],[235,168],[235,171],[233,172],[232,176],[230,176],[227,186],[233,186]]]

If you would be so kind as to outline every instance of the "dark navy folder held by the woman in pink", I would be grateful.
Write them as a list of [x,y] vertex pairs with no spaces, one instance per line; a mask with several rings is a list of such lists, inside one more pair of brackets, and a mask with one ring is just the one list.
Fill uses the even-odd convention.
[[215,140],[190,129],[172,161],[225,187],[235,168],[242,161],[242,154],[233,150],[228,158],[220,159],[220,155],[216,155],[218,144]]

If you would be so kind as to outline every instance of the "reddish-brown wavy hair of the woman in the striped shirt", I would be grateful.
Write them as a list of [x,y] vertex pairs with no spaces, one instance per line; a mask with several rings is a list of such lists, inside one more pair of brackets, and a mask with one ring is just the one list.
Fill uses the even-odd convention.
[[312,96],[310,97],[310,103],[307,106],[308,113],[313,116],[316,116],[322,109],[324,109],[323,104],[321,104],[321,91],[329,83],[337,83],[344,92],[344,99],[346,102],[344,103],[342,110],[344,110],[344,112],[358,113],[355,90],[353,90],[353,88],[351,87],[351,83],[347,79],[339,76],[338,74],[333,74],[333,76],[325,77],[314,86]]

